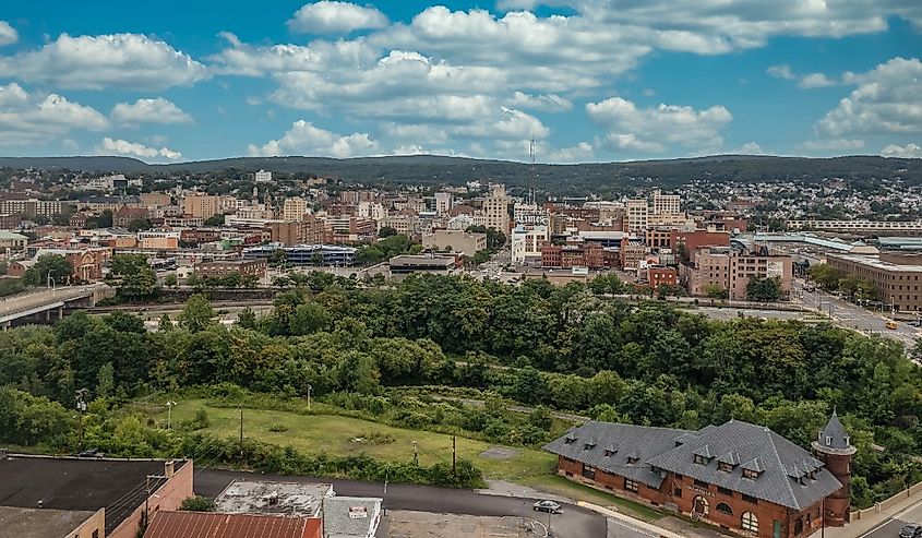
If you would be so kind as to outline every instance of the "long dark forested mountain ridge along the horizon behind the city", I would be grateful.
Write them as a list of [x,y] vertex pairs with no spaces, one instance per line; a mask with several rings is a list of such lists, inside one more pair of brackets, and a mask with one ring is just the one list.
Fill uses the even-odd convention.
[[[879,156],[831,158],[768,155],[714,155],[668,160],[536,164],[439,155],[356,157],[235,157],[151,165],[131,157],[0,157],[3,168],[70,169],[89,172],[254,172],[309,174],[366,184],[459,184],[474,179],[502,181],[512,187],[537,187],[556,192],[594,192],[656,182],[664,187],[692,179],[714,181],[815,182],[828,178],[864,181],[902,179],[922,184],[922,159]],[[534,175],[532,175],[534,170]]]

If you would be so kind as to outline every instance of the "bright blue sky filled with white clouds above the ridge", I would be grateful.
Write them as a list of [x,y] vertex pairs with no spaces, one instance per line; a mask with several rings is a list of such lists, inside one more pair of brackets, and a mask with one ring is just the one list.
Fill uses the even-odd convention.
[[0,155],[922,157],[922,2],[20,1]]

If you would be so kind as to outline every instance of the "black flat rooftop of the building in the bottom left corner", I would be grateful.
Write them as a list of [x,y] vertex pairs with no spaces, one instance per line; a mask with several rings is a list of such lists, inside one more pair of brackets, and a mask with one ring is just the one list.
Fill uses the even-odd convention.
[[[0,505],[43,510],[106,509],[106,531],[144,502],[147,475],[164,474],[163,459],[96,459],[10,454],[0,459]],[[176,470],[188,462],[177,461]],[[164,480],[152,480],[159,488]]]

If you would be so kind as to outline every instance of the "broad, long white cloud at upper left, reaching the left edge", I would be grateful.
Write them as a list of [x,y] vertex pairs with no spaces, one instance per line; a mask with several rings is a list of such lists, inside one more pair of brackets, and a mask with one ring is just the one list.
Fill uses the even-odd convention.
[[164,89],[209,76],[207,68],[165,41],[141,34],[70,36],[0,58],[0,73],[65,88]]

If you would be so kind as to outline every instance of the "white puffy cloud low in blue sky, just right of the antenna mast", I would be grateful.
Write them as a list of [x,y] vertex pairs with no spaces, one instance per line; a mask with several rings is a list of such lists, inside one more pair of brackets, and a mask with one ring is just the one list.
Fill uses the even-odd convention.
[[666,104],[637,108],[623,97],[589,103],[586,112],[606,128],[608,145],[650,153],[662,152],[664,142],[686,148],[718,150],[723,143],[720,129],[733,119],[722,106],[704,110]]

